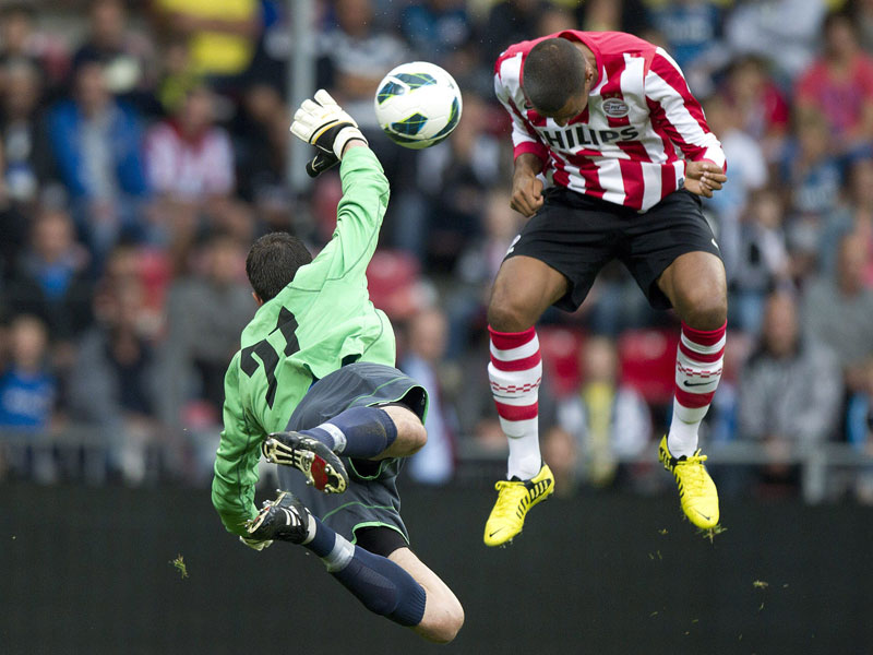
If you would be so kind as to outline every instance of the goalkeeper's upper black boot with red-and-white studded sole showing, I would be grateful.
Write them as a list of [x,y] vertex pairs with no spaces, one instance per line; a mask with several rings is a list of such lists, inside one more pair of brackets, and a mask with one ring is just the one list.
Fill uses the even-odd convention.
[[261,445],[267,462],[294,466],[307,484],[325,493],[342,493],[348,474],[339,456],[324,443],[299,432],[273,432]]

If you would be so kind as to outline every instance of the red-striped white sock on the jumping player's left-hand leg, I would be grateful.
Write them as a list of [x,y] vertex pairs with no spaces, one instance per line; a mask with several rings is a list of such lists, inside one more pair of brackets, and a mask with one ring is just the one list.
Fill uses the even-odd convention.
[[539,408],[542,357],[534,327],[524,332],[497,332],[490,325],[491,364],[488,378],[500,425],[510,440],[506,478],[527,480],[539,473]]

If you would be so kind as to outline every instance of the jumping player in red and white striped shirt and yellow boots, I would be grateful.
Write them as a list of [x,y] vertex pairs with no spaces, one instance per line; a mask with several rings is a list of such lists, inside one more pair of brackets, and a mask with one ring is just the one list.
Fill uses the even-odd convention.
[[511,204],[530,221],[488,308],[488,371],[510,457],[485,543],[512,539],[554,489],[539,450],[534,325],[551,305],[578,308],[613,259],[653,307],[673,307],[682,320],[659,458],[689,520],[714,527],[718,495],[697,428],[721,377],[727,288],[699,196],[727,180],[721,144],[670,56],[629,34],[566,31],[512,46],[498,59],[494,88],[513,120]]

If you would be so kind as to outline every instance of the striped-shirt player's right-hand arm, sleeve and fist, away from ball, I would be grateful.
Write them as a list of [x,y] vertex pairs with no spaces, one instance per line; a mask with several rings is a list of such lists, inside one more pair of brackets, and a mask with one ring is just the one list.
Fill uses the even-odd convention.
[[661,48],[651,60],[645,87],[653,124],[685,156],[685,189],[711,198],[728,179],[725,151],[679,66]]

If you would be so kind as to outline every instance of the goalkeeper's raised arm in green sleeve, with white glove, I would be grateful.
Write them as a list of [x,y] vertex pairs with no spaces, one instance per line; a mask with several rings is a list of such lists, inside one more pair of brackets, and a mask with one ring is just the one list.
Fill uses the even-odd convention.
[[336,229],[308,274],[324,272],[325,277],[363,281],[388,206],[390,188],[382,165],[367,147],[354,119],[325,91],[319,91],[314,102],[300,106],[291,131],[319,148],[308,166],[310,172],[324,170],[331,157],[334,163],[342,160],[343,198],[336,211]]

